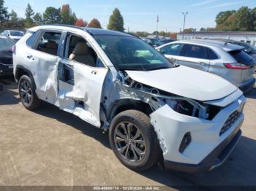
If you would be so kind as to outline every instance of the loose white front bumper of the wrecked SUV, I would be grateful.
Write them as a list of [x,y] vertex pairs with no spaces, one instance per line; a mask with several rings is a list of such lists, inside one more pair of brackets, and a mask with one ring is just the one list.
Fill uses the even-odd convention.
[[[151,123],[159,139],[166,168],[194,173],[210,171],[225,162],[241,136],[244,95],[223,108],[213,120],[203,120],[162,106],[151,114]],[[235,120],[227,120],[238,112]],[[191,138],[181,151],[184,136]]]

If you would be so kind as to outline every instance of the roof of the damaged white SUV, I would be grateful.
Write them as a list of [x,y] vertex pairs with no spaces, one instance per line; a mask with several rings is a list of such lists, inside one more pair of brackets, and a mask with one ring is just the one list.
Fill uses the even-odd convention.
[[[132,36],[130,34],[119,32],[119,31],[112,31],[102,28],[89,28],[89,27],[80,27],[80,26],[71,26],[71,25],[42,25],[42,26],[36,26],[34,28],[30,28],[29,31],[34,31],[38,29],[68,29],[68,28],[75,28],[79,30],[83,30],[88,32],[89,34],[93,35],[113,35],[113,36]],[[132,36],[135,37],[135,36]]]

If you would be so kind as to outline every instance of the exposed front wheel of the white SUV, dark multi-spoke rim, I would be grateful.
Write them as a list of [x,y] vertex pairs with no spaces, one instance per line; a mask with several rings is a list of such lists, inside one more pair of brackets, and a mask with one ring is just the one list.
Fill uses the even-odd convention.
[[127,110],[117,114],[110,124],[109,139],[118,160],[132,170],[144,171],[159,160],[159,141],[143,112]]

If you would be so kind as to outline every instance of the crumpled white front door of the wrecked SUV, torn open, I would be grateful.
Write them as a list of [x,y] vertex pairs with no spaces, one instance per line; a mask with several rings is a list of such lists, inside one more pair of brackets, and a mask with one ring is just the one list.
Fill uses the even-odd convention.
[[99,107],[108,68],[84,36],[68,33],[58,64],[59,107],[100,127]]

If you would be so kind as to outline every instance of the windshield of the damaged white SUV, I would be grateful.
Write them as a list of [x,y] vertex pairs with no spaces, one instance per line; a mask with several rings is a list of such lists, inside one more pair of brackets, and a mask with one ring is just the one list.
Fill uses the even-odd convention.
[[118,70],[148,71],[173,66],[157,50],[135,37],[96,35],[94,39]]

